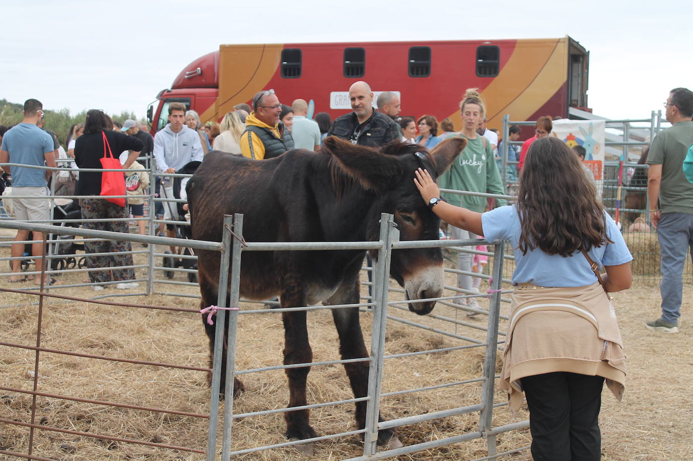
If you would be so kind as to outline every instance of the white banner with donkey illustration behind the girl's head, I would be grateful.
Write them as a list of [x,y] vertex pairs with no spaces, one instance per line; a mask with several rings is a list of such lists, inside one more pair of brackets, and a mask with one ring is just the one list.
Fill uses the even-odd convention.
[[559,138],[568,147],[578,151],[584,148],[587,168],[592,170],[595,179],[602,179],[604,168],[604,120],[568,120],[561,118],[554,120],[551,135]]

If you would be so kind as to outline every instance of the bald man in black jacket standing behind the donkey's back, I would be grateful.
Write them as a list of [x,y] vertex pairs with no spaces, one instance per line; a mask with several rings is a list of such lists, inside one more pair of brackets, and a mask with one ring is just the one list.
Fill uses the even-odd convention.
[[352,84],[349,88],[349,100],[351,114],[337,117],[328,136],[337,136],[353,144],[371,147],[378,147],[401,137],[397,123],[373,107],[373,91],[369,84]]

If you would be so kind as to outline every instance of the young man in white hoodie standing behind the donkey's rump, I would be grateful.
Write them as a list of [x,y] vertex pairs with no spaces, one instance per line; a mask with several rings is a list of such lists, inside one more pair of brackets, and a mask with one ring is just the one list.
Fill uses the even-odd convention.
[[[200,135],[184,125],[185,109],[182,102],[172,102],[168,106],[168,124],[154,136],[154,158],[159,172],[175,173],[191,161],[202,161]],[[164,198],[173,199],[172,178],[162,179],[161,186]],[[179,219],[175,202],[164,204],[164,219]],[[175,237],[173,224],[166,224],[166,235]],[[175,246],[170,249],[176,252]]]

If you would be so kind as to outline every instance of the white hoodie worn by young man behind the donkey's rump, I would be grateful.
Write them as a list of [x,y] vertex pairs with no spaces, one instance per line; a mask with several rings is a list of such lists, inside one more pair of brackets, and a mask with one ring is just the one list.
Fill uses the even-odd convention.
[[191,161],[202,161],[202,144],[200,135],[194,129],[183,125],[174,133],[168,123],[154,136],[154,158],[157,159],[157,170],[164,172],[168,168],[178,171]]

